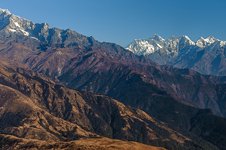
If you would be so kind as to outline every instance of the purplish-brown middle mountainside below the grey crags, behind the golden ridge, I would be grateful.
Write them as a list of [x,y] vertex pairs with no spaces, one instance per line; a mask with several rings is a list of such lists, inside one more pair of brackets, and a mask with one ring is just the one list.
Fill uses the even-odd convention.
[[[70,87],[115,98],[121,98],[116,95],[127,90],[127,80],[136,76],[142,84],[150,84],[179,102],[210,108],[215,114],[225,116],[224,106],[220,105],[224,99],[219,101],[217,91],[218,83],[224,83],[223,77],[202,76],[186,69],[160,67],[115,44],[92,41],[92,45],[86,48],[79,45],[66,48],[53,46],[45,51],[38,49],[40,41],[36,46],[33,42],[2,42],[0,57],[59,79]],[[137,86],[137,90],[140,87]]]

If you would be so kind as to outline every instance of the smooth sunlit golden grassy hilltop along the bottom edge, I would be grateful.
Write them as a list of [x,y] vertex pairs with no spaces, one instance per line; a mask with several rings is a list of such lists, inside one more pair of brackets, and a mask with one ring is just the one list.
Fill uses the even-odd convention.
[[109,138],[89,138],[80,139],[71,142],[46,142],[32,139],[22,139],[14,136],[0,135],[1,149],[15,149],[15,150],[47,150],[47,149],[60,149],[60,150],[164,150],[164,148],[148,146],[136,142],[127,142],[120,140],[113,140]]

